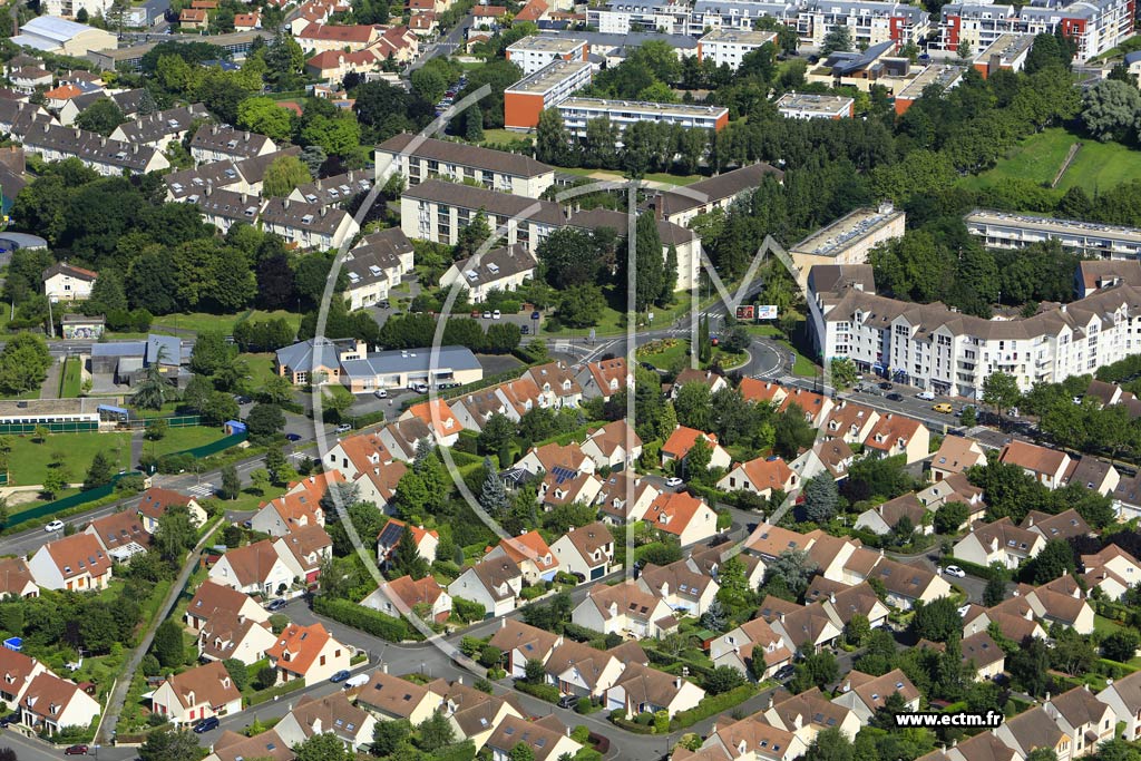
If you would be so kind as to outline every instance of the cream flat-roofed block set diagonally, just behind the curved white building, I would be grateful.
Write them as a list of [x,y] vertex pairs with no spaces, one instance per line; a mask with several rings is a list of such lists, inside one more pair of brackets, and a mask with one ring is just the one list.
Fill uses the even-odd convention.
[[798,282],[808,284],[817,265],[863,265],[867,252],[884,241],[904,234],[905,214],[890,203],[877,209],[857,209],[812,233],[788,252],[796,266]]

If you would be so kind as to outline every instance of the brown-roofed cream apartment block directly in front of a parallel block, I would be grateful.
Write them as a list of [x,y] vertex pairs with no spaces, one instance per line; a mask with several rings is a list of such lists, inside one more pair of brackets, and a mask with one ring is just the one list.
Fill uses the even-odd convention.
[[460,230],[480,211],[493,232],[505,227],[501,244],[519,244],[531,253],[544,237],[567,224],[563,209],[551,201],[430,179],[400,196],[400,229],[412,238],[455,245]]

